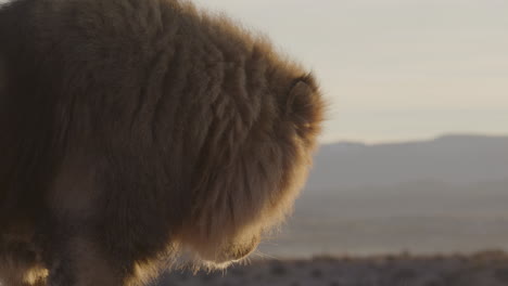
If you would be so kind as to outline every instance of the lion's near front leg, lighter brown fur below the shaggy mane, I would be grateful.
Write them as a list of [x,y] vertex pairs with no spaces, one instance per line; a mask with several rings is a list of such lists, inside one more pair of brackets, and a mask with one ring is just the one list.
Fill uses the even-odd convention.
[[93,170],[89,158],[68,156],[49,192],[48,286],[125,285],[125,265],[97,238],[101,193]]

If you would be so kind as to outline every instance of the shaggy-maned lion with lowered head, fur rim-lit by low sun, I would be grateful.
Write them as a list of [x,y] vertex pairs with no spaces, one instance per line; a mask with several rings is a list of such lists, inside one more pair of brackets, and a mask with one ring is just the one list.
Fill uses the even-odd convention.
[[0,280],[142,285],[251,253],[302,188],[312,73],[180,0],[0,9]]

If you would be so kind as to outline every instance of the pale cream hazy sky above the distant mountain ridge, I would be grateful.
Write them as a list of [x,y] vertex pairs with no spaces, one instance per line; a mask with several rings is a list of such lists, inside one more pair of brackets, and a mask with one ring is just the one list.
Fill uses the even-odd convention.
[[508,134],[506,0],[199,0],[312,67],[322,141]]

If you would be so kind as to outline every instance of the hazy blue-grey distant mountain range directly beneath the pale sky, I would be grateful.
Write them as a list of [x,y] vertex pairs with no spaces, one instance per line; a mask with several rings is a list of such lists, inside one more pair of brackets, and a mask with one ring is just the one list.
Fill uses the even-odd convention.
[[325,145],[315,157],[306,188],[340,190],[415,181],[470,184],[505,179],[508,135],[444,135],[421,142]]

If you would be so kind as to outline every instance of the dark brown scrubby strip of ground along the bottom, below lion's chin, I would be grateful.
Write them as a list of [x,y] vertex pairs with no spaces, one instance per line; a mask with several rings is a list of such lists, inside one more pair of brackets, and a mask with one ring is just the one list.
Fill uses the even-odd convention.
[[316,257],[309,260],[253,261],[226,273],[176,271],[158,286],[506,286],[508,255],[485,251],[471,256],[370,258]]

